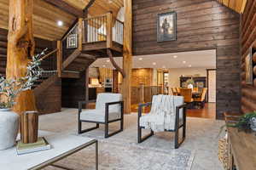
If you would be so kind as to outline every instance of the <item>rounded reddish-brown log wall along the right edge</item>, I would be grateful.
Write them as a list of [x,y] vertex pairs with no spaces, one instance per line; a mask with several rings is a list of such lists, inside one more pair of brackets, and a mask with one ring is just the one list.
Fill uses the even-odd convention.
[[[256,86],[245,84],[244,55],[253,45],[256,48],[256,1],[248,0],[241,17],[241,111],[256,111]],[[255,83],[255,82],[254,82]]]

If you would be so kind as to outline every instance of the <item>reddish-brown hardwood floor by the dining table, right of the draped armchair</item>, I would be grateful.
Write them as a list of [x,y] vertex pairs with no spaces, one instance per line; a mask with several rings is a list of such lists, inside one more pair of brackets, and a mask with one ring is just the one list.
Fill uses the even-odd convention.
[[207,103],[204,109],[188,109],[187,116],[215,119],[216,103]]

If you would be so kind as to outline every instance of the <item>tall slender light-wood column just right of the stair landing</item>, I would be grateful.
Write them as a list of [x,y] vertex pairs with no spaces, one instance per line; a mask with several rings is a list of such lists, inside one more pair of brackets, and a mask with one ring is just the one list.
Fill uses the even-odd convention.
[[123,80],[122,94],[125,101],[125,113],[131,113],[131,69],[132,69],[132,0],[124,0],[125,22],[124,22],[124,56],[123,69],[125,77]]

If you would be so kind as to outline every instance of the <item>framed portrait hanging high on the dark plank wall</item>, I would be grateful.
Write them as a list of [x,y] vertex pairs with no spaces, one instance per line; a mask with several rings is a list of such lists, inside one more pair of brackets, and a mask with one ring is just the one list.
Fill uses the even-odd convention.
[[177,40],[177,14],[168,12],[158,14],[157,17],[157,42]]

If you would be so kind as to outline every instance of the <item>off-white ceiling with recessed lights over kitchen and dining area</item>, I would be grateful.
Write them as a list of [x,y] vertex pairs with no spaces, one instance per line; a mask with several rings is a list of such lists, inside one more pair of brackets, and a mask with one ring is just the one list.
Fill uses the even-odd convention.
[[[175,58],[174,56],[177,56]],[[142,60],[141,60],[142,59]],[[122,57],[114,58],[122,67]],[[155,64],[155,65],[154,65]],[[90,67],[113,68],[109,59],[97,59]],[[172,54],[139,55],[133,57],[133,68],[216,68],[216,50]]]

